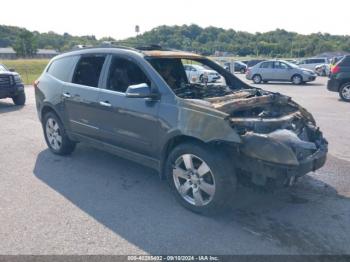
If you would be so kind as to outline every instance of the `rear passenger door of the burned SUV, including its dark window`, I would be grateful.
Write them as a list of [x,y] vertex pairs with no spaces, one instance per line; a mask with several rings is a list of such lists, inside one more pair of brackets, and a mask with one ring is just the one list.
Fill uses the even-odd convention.
[[79,58],[71,83],[63,88],[64,111],[72,132],[90,138],[98,137],[98,91],[105,54]]

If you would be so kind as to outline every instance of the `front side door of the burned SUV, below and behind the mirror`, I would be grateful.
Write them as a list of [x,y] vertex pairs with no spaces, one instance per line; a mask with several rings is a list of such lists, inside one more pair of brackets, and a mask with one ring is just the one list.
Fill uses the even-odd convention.
[[132,58],[111,55],[109,60],[98,98],[100,139],[112,146],[153,156],[161,128],[160,101],[128,98],[125,92],[130,85],[146,83],[150,88],[156,87],[142,65]]

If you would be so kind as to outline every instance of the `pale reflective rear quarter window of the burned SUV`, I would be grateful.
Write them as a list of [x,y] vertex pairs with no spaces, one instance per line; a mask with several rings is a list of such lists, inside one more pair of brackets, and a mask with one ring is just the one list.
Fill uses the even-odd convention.
[[61,81],[69,82],[76,60],[77,56],[56,59],[49,66],[47,73]]

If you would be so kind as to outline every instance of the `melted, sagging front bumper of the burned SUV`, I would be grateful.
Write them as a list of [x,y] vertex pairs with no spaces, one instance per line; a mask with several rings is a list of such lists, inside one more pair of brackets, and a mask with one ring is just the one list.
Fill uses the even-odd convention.
[[[298,150],[284,143],[245,141],[237,155],[237,166],[248,174],[254,184],[265,186],[268,180],[284,185],[291,179],[301,177],[321,168],[327,159],[328,142],[319,134],[317,148],[310,154],[298,158]],[[311,152],[311,151],[308,151]]]

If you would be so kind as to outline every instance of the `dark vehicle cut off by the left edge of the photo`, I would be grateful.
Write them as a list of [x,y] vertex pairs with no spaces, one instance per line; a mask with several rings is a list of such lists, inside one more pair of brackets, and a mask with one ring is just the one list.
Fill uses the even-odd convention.
[[20,75],[0,64],[0,99],[12,98],[16,105],[24,105],[26,95]]

